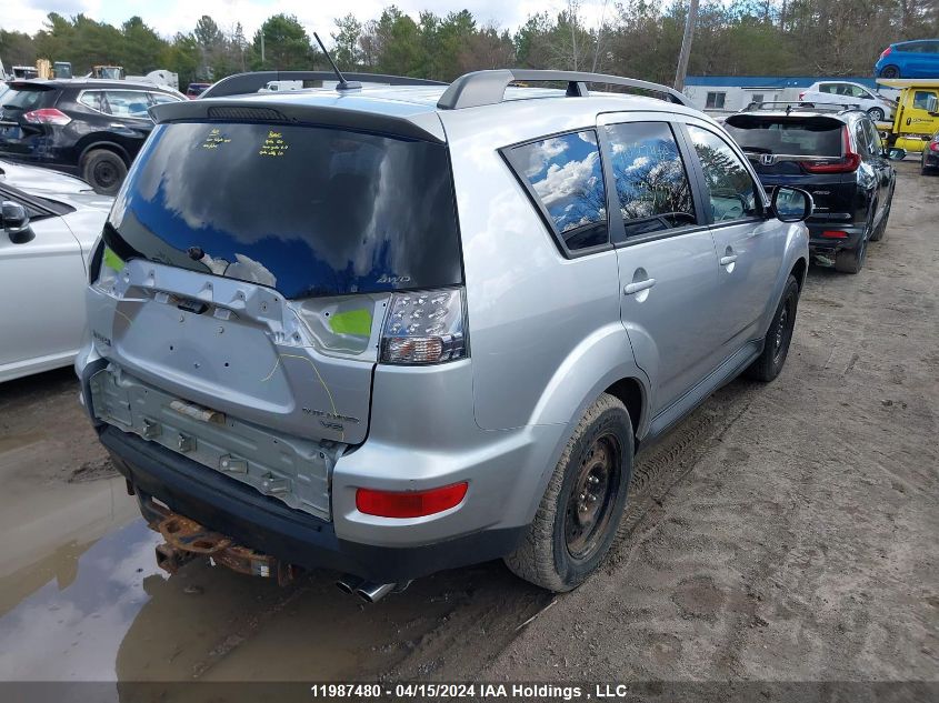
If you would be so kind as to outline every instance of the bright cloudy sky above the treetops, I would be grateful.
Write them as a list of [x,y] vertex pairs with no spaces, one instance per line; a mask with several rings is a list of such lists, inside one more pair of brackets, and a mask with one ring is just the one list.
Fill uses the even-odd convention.
[[[392,3],[416,19],[421,10],[447,14],[467,9],[479,23],[496,22],[509,29],[517,28],[530,14],[556,12],[567,4],[565,0],[0,0],[0,28],[32,34],[42,29],[49,12],[64,17],[84,13],[116,27],[138,14],[158,33],[171,37],[192,31],[199,17],[210,14],[223,30],[240,21],[250,39],[268,17],[284,12],[297,16],[309,34],[317,31],[326,40],[334,30],[337,17],[352,12],[360,21],[377,19],[382,8]],[[580,4],[588,26],[596,24],[602,12],[613,12],[609,0],[581,0]]]

